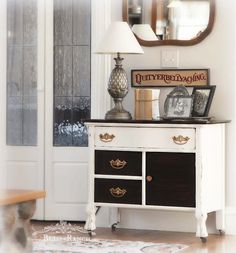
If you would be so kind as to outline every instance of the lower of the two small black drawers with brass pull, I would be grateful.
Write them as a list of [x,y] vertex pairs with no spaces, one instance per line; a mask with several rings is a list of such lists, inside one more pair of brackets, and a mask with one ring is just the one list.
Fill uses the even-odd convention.
[[95,179],[95,202],[142,204],[142,181]]

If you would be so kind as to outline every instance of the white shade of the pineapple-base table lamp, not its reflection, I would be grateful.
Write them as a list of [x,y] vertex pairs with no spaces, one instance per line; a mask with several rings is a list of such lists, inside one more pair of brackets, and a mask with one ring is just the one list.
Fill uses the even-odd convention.
[[99,54],[143,54],[127,22],[113,22],[108,27],[102,41],[99,43],[96,53]]

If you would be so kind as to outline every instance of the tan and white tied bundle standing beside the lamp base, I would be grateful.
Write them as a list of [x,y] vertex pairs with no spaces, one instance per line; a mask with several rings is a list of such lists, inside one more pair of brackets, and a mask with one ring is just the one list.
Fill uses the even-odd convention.
[[159,89],[135,89],[135,119],[159,119]]

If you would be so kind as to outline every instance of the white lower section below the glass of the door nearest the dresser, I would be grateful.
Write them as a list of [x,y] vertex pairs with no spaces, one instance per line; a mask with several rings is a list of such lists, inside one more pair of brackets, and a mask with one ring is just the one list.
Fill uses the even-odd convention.
[[[86,219],[88,148],[54,147],[46,154],[46,220]],[[50,155],[51,154],[51,155]]]

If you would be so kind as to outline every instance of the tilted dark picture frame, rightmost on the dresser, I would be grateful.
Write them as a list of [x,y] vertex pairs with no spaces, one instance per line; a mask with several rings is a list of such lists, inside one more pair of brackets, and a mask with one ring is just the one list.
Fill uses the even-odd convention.
[[194,87],[193,88],[193,116],[207,117],[216,86]]

